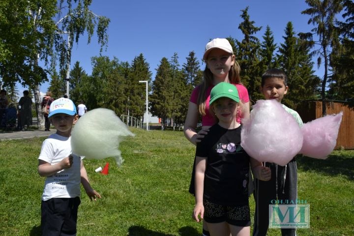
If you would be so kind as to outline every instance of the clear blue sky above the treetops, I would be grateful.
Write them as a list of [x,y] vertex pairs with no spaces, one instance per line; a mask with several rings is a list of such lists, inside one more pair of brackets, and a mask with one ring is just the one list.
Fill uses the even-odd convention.
[[[238,25],[242,21],[241,10],[247,6],[255,26],[263,27],[257,34],[260,40],[267,25],[278,45],[284,41],[289,21],[296,33],[314,28],[307,24],[309,16],[300,13],[308,8],[304,0],[93,0],[90,9],[111,19],[108,47],[102,56],[131,63],[142,53],[154,79],[163,57],[171,59],[176,52],[182,65],[189,52],[194,51],[204,69],[201,59],[209,39],[232,36],[241,40]],[[83,35],[79,44],[73,45],[70,69],[79,61],[91,74],[94,56],[99,56],[97,38],[93,37],[88,45]],[[316,74],[322,76],[323,70],[317,70]],[[41,85],[41,92],[45,93],[48,86],[49,83]],[[19,86],[20,95],[22,90]]]

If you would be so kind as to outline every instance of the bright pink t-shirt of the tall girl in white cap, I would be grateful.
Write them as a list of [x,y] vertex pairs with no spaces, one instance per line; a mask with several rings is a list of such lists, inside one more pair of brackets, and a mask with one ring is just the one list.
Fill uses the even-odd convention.
[[[238,96],[240,97],[240,101],[242,103],[249,102],[249,96],[248,96],[248,91],[247,91],[246,87],[244,87],[243,85],[240,85],[240,84],[233,84],[233,85],[235,85],[237,88]],[[211,126],[216,123],[216,120],[209,113],[210,92],[213,87],[214,87],[214,85],[211,85],[206,91],[206,96],[207,96],[206,114],[207,115],[202,117],[202,126]],[[197,104],[199,90],[200,90],[200,86],[197,86],[195,89],[193,89],[191,98],[189,100],[190,102]],[[241,118],[242,118],[242,114],[241,114],[241,112],[238,111],[237,117],[236,117],[236,120],[238,123],[241,123]]]

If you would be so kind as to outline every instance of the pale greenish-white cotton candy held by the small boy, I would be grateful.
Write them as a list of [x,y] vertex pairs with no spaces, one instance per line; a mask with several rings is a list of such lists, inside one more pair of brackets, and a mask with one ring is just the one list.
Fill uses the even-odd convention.
[[134,136],[115,112],[97,108],[82,116],[71,132],[73,153],[88,159],[115,157],[118,166],[123,159],[119,143],[126,136]]

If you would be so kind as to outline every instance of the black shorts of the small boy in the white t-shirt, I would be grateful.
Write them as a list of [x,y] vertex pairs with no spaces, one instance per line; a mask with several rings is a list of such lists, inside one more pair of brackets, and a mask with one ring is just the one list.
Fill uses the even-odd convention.
[[42,236],[76,235],[80,198],[52,198],[42,201]]

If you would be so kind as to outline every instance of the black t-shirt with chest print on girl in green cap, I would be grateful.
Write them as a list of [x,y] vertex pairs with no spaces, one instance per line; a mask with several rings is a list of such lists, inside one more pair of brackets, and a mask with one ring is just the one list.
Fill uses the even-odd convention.
[[218,124],[197,144],[196,155],[207,157],[204,198],[225,206],[248,204],[249,156],[240,146],[241,126],[225,129]]

